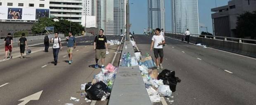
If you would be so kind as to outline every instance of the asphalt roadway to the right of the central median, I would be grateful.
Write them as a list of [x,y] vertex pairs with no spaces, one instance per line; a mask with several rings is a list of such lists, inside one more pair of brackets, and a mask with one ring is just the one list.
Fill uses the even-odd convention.
[[[142,55],[152,37],[135,35]],[[181,79],[168,105],[254,105],[256,59],[166,38],[163,66]],[[161,70],[159,70],[159,73]],[[171,100],[174,102],[172,103]]]

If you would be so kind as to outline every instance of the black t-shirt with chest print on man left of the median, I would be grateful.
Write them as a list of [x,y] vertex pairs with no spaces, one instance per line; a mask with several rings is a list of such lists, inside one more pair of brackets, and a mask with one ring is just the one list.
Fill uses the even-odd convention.
[[106,36],[97,35],[94,42],[96,42],[96,49],[106,49],[105,42],[107,43]]

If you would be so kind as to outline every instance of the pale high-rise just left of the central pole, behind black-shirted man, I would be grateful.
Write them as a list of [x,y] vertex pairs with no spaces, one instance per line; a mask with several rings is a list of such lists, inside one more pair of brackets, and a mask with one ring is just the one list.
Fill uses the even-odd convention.
[[97,28],[106,35],[120,35],[125,29],[124,0],[97,0]]

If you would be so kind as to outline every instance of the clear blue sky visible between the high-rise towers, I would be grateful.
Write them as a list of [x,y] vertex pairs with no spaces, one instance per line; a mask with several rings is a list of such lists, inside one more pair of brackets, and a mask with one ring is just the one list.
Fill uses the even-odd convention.
[[[228,5],[229,0],[198,0],[199,26],[208,27],[208,32],[213,33],[211,8]],[[147,23],[147,0],[129,0],[130,2],[130,31],[136,34],[142,34]],[[171,31],[171,0],[165,0],[165,26],[166,31]],[[206,28],[199,28],[206,31]]]

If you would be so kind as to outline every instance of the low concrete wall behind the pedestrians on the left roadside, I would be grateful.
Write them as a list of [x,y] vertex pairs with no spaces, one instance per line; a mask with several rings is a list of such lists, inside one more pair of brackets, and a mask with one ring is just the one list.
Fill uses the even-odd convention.
[[[50,38],[54,37],[54,35],[49,35]],[[59,34],[59,37],[64,38],[64,34]],[[15,37],[13,38],[13,43],[17,43],[19,41],[20,37]],[[43,40],[45,38],[45,35],[39,35],[39,36],[30,36],[30,37],[26,37],[28,41],[31,40]],[[0,45],[4,44],[4,40],[5,39],[0,39]],[[42,41],[43,42],[43,41]]]

